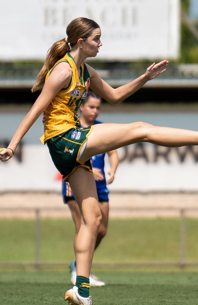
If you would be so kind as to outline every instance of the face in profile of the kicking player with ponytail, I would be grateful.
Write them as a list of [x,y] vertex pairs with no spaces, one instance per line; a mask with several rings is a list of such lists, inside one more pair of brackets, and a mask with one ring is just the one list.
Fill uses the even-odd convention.
[[99,48],[102,45],[100,37],[101,29],[97,28],[93,31],[91,36],[87,38],[85,44],[83,44],[84,52],[86,52],[87,57],[95,57],[99,52]]

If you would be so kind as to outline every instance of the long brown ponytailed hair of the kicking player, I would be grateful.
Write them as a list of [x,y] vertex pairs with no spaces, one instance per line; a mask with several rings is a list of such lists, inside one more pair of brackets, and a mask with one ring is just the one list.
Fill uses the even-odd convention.
[[69,52],[80,38],[86,41],[93,30],[97,28],[99,28],[99,25],[94,20],[88,18],[79,17],[72,20],[66,28],[67,38],[56,41],[48,50],[45,63],[38,73],[36,83],[31,91],[41,91],[45,83],[45,77],[55,63]]

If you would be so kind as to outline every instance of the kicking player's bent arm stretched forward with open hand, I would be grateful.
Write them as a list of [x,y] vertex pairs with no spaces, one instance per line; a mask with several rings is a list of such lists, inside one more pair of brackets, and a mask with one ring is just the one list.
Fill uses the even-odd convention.
[[103,81],[92,67],[86,64],[90,74],[90,88],[111,104],[118,104],[119,102],[122,102],[124,99],[140,89],[147,81],[163,73],[166,70],[167,65],[167,60],[163,60],[157,64],[153,63],[147,68],[143,75],[128,84],[114,89]]

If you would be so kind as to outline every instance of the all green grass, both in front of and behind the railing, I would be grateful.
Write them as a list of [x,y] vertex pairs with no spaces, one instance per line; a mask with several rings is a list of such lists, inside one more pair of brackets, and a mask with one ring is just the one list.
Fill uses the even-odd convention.
[[[186,219],[186,260],[198,261],[196,219]],[[94,254],[95,263],[179,261],[178,219],[110,219],[108,234]],[[0,261],[33,262],[33,220],[0,220]],[[74,226],[70,219],[41,220],[43,262],[73,260]],[[66,267],[0,267],[0,304],[61,305],[71,288]],[[186,272],[186,270],[188,272]],[[191,272],[190,272],[191,271]],[[193,272],[192,272],[193,271]],[[92,288],[93,305],[197,305],[198,273],[176,267],[95,267],[106,282]]]

